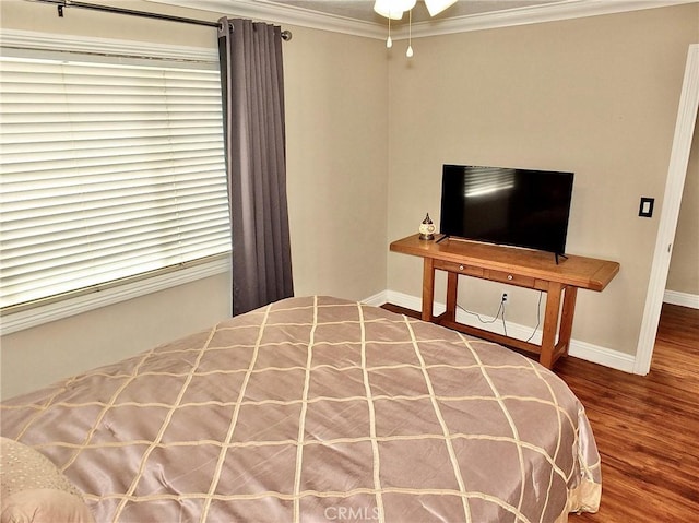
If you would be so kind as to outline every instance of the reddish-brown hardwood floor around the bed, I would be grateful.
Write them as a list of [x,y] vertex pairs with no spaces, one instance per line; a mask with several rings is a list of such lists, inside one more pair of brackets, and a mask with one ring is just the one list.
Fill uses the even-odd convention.
[[699,310],[663,305],[648,376],[571,357],[556,372],[585,406],[602,456],[600,511],[569,522],[699,521]]

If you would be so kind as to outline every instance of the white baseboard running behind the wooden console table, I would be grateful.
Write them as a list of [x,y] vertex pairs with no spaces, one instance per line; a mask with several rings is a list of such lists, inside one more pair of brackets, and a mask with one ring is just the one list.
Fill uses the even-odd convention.
[[[390,302],[417,311],[422,310],[423,308],[422,298],[403,293],[398,293],[395,290],[383,290],[363,301],[367,305],[374,306],[380,306],[386,302]],[[434,313],[436,316],[441,314],[446,310],[445,304],[440,304],[438,301],[435,301],[434,307]],[[503,333],[501,320],[493,321],[493,318],[490,317],[487,317],[485,314],[479,316],[485,322],[488,322],[487,326],[485,328],[499,334]],[[469,314],[461,309],[457,311],[457,321],[466,325],[484,328],[484,324],[481,323],[475,316]],[[507,334],[509,336],[519,340],[528,340],[530,336],[532,336],[532,343],[541,343],[541,330],[537,330],[532,335],[531,326],[521,325],[510,321],[506,321],[506,328]],[[568,354],[572,357],[584,359],[585,361],[591,361],[604,367],[609,367],[612,369],[623,370],[624,372],[633,372],[635,358],[632,355],[619,353],[618,350],[614,350],[607,347],[601,347],[599,345],[593,345],[591,343],[582,342],[579,340],[571,340]]]

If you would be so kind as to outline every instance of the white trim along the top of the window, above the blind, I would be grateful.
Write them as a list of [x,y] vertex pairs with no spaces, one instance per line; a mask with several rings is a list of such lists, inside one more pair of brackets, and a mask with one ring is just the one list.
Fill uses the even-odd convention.
[[152,41],[60,35],[33,31],[0,28],[0,46],[45,51],[105,54],[218,63],[218,49],[215,47],[173,46]]

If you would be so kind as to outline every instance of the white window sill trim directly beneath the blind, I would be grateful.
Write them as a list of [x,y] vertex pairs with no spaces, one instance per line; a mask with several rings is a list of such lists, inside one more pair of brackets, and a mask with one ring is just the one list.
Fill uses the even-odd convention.
[[62,320],[93,309],[165,290],[186,283],[228,272],[230,259],[213,260],[159,276],[140,280],[92,294],[67,298],[45,306],[34,307],[0,318],[0,335],[11,334],[33,326]]

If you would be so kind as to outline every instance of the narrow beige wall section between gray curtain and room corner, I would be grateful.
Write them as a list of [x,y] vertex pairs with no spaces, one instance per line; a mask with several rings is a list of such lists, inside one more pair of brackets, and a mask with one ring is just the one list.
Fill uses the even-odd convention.
[[297,27],[284,52],[296,294],[367,298],[386,288],[386,48]]

